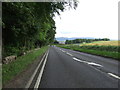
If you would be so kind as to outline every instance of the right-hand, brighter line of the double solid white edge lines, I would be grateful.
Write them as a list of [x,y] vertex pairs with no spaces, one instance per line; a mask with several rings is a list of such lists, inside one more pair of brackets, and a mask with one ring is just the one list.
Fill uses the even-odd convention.
[[[48,51],[48,53],[49,53],[49,51]],[[40,81],[41,81],[41,77],[42,77],[42,74],[43,74],[43,71],[44,71],[44,67],[45,67],[45,64],[46,64],[46,61],[47,61],[48,53],[47,53],[47,55],[46,55],[45,61],[44,61],[44,63],[43,63],[43,66],[42,66],[42,68],[41,68],[41,71],[40,71],[40,73],[39,73],[39,76],[38,76],[38,78],[37,78],[37,81],[36,81],[36,83],[35,83],[34,88],[37,88],[37,89],[38,89],[38,87],[39,87],[39,85],[40,85]]]

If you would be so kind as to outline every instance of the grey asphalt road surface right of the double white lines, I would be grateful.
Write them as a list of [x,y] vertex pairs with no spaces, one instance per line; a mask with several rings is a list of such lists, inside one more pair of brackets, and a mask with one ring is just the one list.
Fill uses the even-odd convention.
[[117,60],[52,46],[39,88],[118,88]]

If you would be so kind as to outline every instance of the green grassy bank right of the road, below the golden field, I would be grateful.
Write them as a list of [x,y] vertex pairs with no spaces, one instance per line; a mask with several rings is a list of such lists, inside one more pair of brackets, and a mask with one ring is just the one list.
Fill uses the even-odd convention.
[[119,60],[120,59],[120,53],[118,52],[118,49],[120,47],[118,46],[78,46],[78,45],[58,45],[58,47],[66,48],[66,49],[72,49],[80,52],[90,53],[94,55],[104,56],[104,57],[110,57]]

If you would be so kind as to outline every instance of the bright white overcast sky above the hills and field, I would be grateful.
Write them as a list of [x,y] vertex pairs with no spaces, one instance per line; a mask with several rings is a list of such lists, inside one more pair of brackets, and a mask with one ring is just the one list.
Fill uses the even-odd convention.
[[79,0],[76,10],[65,10],[54,18],[55,37],[118,39],[118,1]]

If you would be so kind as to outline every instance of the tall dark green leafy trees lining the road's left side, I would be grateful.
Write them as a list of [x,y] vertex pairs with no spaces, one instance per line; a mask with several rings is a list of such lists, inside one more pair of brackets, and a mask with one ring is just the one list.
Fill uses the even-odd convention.
[[[75,1],[75,0],[73,0]],[[69,2],[3,2],[2,56],[24,52],[54,41],[56,26],[53,17],[60,15]]]

